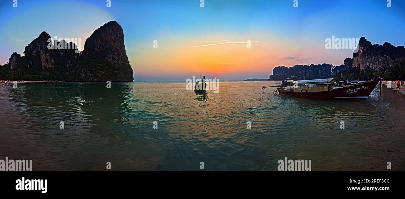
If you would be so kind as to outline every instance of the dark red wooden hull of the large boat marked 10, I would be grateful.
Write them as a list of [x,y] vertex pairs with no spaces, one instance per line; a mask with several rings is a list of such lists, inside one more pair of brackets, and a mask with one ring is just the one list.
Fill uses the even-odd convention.
[[366,100],[378,83],[379,80],[372,80],[350,87],[342,87],[333,89],[332,91],[321,92],[294,92],[283,88],[278,88],[277,90],[281,95],[288,95],[291,97],[325,100]]

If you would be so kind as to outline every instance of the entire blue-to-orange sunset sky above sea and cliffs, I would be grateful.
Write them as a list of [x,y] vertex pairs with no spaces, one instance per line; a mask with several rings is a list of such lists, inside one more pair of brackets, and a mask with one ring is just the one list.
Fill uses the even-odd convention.
[[17,0],[14,7],[0,0],[0,64],[43,31],[81,38],[83,50],[108,21],[124,30],[135,81],[244,80],[269,78],[277,66],[339,66],[353,49],[326,49],[332,37],[405,45],[404,0],[391,7],[387,0],[296,1],[111,0],[107,7],[107,0]]

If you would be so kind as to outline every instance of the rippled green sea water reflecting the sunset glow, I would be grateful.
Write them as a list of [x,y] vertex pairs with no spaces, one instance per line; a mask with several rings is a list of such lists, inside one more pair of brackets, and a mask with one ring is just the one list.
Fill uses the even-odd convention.
[[34,170],[104,170],[107,161],[117,170],[199,170],[200,161],[206,170],[276,170],[284,157],[311,159],[312,170],[385,170],[387,161],[405,169],[404,124],[392,120],[405,116],[375,92],[365,101],[307,100],[262,86],[0,87],[0,159],[33,159]]

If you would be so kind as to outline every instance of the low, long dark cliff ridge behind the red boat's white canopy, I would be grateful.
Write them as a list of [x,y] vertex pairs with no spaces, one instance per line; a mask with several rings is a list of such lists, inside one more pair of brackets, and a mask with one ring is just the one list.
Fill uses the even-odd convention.
[[[336,66],[333,70],[333,74],[337,74],[340,70],[344,70],[345,66]],[[291,76],[300,76],[301,79],[321,79],[330,78],[332,73],[330,72],[330,64],[320,65],[295,65],[287,68],[285,66],[278,66],[273,69],[273,75],[268,80],[284,80]]]

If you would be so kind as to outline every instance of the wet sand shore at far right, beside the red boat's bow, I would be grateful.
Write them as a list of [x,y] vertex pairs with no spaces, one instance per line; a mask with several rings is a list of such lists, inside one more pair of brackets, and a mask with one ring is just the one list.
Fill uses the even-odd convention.
[[[386,83],[383,82],[383,84]],[[395,87],[396,84],[393,88],[387,88],[383,85],[382,101],[389,103],[389,108],[400,110],[405,113],[405,87],[401,87],[401,89],[395,89]]]

